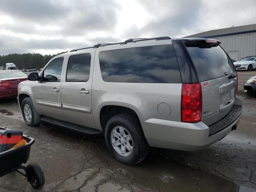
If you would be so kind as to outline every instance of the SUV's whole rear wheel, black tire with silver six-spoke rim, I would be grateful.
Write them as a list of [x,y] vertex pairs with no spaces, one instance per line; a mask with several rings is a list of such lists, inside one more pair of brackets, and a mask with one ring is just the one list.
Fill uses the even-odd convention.
[[140,122],[131,114],[112,117],[106,124],[105,140],[108,150],[124,164],[137,164],[149,152]]

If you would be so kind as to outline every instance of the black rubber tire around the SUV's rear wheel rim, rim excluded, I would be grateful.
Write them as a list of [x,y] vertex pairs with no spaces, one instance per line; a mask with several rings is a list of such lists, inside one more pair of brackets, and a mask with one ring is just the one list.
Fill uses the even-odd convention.
[[[112,129],[116,126],[124,127],[131,135],[133,141],[133,150],[129,156],[122,156],[118,154],[111,141]],[[149,152],[149,145],[142,132],[139,120],[131,114],[119,114],[112,117],[106,124],[105,141],[108,150],[114,157],[123,164],[135,165],[144,160]]]

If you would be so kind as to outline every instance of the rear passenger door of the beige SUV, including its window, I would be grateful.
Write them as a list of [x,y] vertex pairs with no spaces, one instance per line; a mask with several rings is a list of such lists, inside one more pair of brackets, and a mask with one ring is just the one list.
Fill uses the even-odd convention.
[[62,108],[68,122],[95,128],[92,116],[92,70],[95,50],[72,54],[62,82]]

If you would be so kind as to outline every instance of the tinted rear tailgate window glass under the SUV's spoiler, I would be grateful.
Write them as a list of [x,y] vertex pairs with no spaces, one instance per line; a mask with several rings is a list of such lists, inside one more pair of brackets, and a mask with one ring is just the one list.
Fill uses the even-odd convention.
[[187,50],[196,66],[200,81],[219,78],[225,76],[225,73],[231,74],[235,71],[232,61],[220,46],[187,47]]

